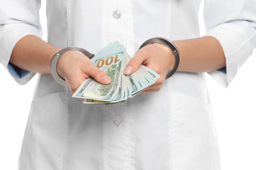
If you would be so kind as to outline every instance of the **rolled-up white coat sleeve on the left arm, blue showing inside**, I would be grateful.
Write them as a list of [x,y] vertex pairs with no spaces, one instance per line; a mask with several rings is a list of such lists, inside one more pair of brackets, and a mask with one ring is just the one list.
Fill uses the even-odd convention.
[[15,44],[22,37],[41,37],[40,7],[41,0],[0,2],[0,62],[19,84],[26,84],[35,73],[20,69],[9,61]]

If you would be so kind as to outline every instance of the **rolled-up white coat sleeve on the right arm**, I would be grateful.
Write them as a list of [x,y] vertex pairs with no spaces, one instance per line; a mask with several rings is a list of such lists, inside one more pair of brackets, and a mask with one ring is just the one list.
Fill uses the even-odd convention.
[[206,35],[221,43],[226,57],[226,67],[209,75],[226,88],[256,47],[256,1],[205,0],[203,17]]

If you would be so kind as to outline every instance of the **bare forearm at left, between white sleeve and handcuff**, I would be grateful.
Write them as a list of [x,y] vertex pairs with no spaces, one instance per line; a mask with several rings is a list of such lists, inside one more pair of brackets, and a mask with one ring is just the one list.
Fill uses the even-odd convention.
[[16,43],[10,62],[26,71],[51,74],[51,59],[59,50],[39,37],[28,35]]

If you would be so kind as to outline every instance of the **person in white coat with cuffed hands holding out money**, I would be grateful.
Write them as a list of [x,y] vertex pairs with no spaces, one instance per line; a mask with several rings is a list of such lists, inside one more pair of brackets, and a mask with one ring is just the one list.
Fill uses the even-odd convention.
[[[39,73],[18,169],[219,170],[221,161],[203,73],[226,87],[256,46],[255,0],[205,0],[207,33],[200,37],[200,0],[47,1],[48,42],[41,37],[40,0],[0,2],[0,61],[19,84]],[[153,37],[179,49],[140,45]],[[77,52],[56,65],[69,88],[51,75],[54,54],[69,46],[96,53],[119,41],[133,59],[161,75],[133,99],[84,105],[72,98],[93,76],[110,78]]]

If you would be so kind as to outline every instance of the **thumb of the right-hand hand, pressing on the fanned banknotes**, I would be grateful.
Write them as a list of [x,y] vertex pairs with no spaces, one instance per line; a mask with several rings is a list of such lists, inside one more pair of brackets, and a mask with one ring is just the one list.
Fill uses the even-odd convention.
[[135,71],[137,71],[140,65],[144,62],[144,59],[138,53],[139,52],[135,54],[135,56],[131,59],[131,61],[129,61],[129,63],[125,67],[125,75],[131,75],[132,73],[135,73]]

